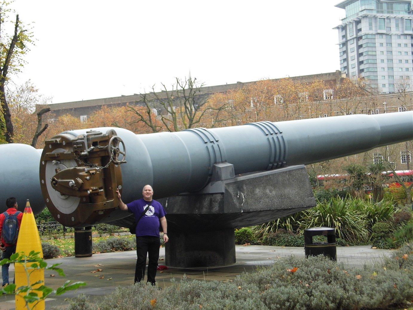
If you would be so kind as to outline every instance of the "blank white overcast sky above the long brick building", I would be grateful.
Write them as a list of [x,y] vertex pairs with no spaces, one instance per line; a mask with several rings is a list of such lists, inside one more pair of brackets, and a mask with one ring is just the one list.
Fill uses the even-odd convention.
[[15,0],[35,46],[17,81],[52,103],[340,69],[339,0]]

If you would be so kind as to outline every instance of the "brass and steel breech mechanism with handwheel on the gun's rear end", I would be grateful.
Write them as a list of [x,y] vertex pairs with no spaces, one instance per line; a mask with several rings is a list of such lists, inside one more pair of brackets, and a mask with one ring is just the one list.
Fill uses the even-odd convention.
[[45,141],[40,185],[52,215],[67,227],[110,216],[119,205],[116,189],[125,159],[125,144],[113,129],[79,136],[66,131]]

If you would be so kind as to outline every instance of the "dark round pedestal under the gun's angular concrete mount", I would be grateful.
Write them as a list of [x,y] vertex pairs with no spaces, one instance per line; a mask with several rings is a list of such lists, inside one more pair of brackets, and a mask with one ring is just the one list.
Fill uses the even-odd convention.
[[170,267],[217,267],[235,264],[234,229],[218,231],[168,231],[166,265]]

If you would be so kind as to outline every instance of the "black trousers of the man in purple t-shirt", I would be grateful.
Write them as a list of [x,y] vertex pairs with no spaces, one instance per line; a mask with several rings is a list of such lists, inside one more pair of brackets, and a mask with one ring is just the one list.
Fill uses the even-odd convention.
[[136,260],[135,283],[142,281],[142,279],[145,277],[146,255],[148,255],[149,262],[146,281],[150,282],[152,285],[155,284],[160,246],[161,241],[159,237],[136,237],[136,255],[138,256],[138,260]]

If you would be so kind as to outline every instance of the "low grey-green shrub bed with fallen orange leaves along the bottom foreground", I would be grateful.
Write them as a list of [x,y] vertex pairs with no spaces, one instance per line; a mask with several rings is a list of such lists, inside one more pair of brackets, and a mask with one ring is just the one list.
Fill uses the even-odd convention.
[[[413,298],[413,248],[375,265],[347,267],[318,257],[279,260],[231,281],[171,280],[162,290],[145,283],[118,288],[100,310],[376,310],[408,306]],[[397,255],[397,256],[396,256]],[[295,267],[295,268],[294,268]]]

